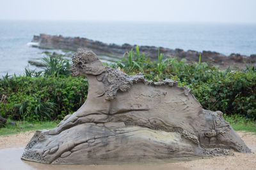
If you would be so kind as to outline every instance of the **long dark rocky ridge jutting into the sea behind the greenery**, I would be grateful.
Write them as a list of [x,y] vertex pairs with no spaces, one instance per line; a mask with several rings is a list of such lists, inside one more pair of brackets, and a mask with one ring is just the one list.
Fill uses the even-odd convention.
[[[110,55],[122,58],[124,53],[135,49],[135,45],[124,44],[122,46],[115,44],[106,44],[100,41],[93,41],[91,39],[79,38],[79,37],[63,37],[63,36],[50,36],[47,34],[40,34],[40,36],[34,36],[32,42],[38,43],[40,48],[58,48],[64,50],[76,51],[77,48],[84,48],[86,50],[93,50],[97,55]],[[200,52],[193,50],[184,51],[176,48],[172,50],[170,48],[159,48],[161,53],[164,53],[166,57],[177,57],[179,59],[186,59],[189,62],[198,62]],[[153,60],[157,60],[158,48],[156,46],[140,46],[140,52],[145,53]],[[203,51],[202,62],[209,62],[210,65],[218,65],[220,68],[226,68],[228,66],[245,67],[244,62],[247,64],[256,64],[256,55],[240,55],[239,53],[232,53],[229,56],[223,55],[218,52]]]

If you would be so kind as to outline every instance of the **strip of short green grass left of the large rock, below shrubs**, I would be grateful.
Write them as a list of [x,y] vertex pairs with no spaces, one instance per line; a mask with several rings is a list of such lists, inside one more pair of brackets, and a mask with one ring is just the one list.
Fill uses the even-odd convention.
[[[40,129],[52,129],[58,125],[58,122],[22,122],[22,121],[15,121],[17,126],[10,125],[8,120],[4,127],[0,128],[0,136],[7,135],[7,134],[17,134],[19,132],[25,131],[35,131]],[[31,126],[33,125],[33,126]],[[22,127],[22,129],[20,129]]]

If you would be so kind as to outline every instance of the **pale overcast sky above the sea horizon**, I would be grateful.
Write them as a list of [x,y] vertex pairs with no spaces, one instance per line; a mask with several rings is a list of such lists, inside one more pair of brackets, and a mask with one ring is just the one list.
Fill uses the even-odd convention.
[[256,23],[256,0],[0,0],[0,19]]

